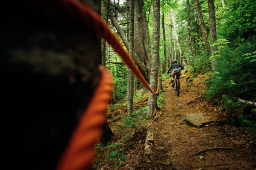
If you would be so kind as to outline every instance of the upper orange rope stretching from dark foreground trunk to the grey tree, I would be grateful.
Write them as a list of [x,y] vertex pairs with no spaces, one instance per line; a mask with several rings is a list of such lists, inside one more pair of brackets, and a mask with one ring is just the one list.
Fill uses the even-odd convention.
[[124,49],[119,39],[114,33],[112,33],[108,25],[104,21],[102,21],[101,17],[96,12],[76,0],[55,0],[54,2],[52,2],[52,0],[46,1],[49,5],[64,10],[64,12],[69,14],[72,18],[82,21],[85,27],[92,29],[92,31],[94,31],[98,35],[101,35],[102,38],[105,39],[112,46],[116,53],[118,53],[118,55],[122,58],[124,63],[126,63],[128,68],[132,70],[138,80],[140,80],[140,82],[151,93],[157,94],[157,92],[154,92],[150,88],[148,82],[145,80],[144,76],[142,76],[140,70],[137,68],[136,64],[134,63],[128,52]]

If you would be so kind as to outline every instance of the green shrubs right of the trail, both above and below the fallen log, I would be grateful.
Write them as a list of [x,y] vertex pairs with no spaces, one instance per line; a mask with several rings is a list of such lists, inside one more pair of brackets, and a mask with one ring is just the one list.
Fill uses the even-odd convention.
[[253,60],[256,39],[251,38],[240,45],[230,43],[227,46],[225,43],[228,41],[216,41],[220,47],[218,66],[208,82],[206,97],[217,98],[215,100],[223,104],[221,108],[230,116],[227,123],[255,128],[255,122],[247,116],[252,110],[244,108],[237,98],[256,101],[256,62]]

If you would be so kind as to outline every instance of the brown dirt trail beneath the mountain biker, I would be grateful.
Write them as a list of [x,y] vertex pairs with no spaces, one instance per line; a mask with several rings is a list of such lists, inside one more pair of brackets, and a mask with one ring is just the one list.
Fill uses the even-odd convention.
[[[163,115],[152,126],[155,143],[153,154],[150,156],[151,162],[147,167],[172,169],[176,162],[180,169],[255,169],[255,150],[246,141],[241,143],[236,139],[236,127],[213,123],[196,128],[184,121],[186,113],[212,115],[214,107],[206,100],[198,98],[199,92],[197,94],[197,91],[190,90],[197,88],[200,82],[194,87],[193,84],[186,84],[186,77],[181,80],[179,97],[173,88],[170,88],[170,79],[163,82],[166,96],[162,107]],[[241,132],[239,135],[246,136]],[[209,150],[188,158],[202,149],[214,147],[228,147],[232,150]],[[167,166],[162,164],[166,161],[171,163]]]

